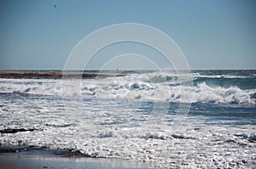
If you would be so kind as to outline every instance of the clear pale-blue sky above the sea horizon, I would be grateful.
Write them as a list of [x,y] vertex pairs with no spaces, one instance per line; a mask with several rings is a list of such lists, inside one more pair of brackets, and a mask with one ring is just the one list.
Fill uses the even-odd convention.
[[[62,70],[85,36],[121,23],[165,32],[191,69],[256,69],[255,8],[253,0],[0,0],[0,69]],[[127,50],[118,47],[113,49],[126,58],[113,63],[133,65],[140,54],[127,58]],[[129,52],[137,54],[144,47],[139,48]],[[96,57],[88,68],[100,69],[103,58]],[[158,66],[167,65],[163,60]]]

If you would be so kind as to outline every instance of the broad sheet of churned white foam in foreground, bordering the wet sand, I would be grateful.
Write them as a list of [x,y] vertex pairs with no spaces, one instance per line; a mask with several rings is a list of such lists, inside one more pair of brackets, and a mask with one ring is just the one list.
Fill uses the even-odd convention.
[[[76,109],[70,116],[64,110],[58,110],[56,105],[61,100],[22,101],[22,104],[19,100],[5,104],[7,112],[0,110],[1,129],[38,130],[2,134],[1,144],[72,149],[94,157],[146,161],[165,168],[247,168],[255,164],[256,133],[249,125],[207,125],[203,122],[207,118],[197,116],[187,119],[183,130],[173,131],[171,121],[153,121],[161,123],[160,128],[154,128],[147,121],[139,122],[144,118],[143,114],[130,106],[98,110],[92,100],[84,105],[84,110],[82,105],[71,100]],[[172,116],[166,116],[168,118],[172,119]]]

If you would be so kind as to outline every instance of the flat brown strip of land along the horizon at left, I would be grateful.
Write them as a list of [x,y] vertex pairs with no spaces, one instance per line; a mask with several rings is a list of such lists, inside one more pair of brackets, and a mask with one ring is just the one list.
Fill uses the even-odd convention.
[[0,70],[0,78],[5,79],[61,79],[64,78],[106,78],[113,76],[125,76],[115,73],[57,71],[57,70]]

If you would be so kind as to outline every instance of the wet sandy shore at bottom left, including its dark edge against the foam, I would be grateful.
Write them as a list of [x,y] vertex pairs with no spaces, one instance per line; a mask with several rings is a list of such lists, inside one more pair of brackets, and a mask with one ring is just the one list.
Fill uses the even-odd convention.
[[152,169],[146,162],[111,158],[95,158],[67,149],[47,149],[33,146],[0,146],[0,166],[12,169],[91,168],[91,169]]

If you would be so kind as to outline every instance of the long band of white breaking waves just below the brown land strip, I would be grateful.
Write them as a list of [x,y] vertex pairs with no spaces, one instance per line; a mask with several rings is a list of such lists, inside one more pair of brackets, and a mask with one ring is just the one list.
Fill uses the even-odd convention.
[[[220,87],[206,82],[188,87],[182,76],[159,73],[135,74],[98,80],[1,80],[1,93],[31,93],[68,97],[97,97],[98,99],[143,99],[214,104],[256,104],[253,97],[256,89],[242,90],[239,87]],[[182,79],[182,80],[180,80]],[[182,82],[181,85],[180,81]],[[176,84],[176,85],[173,85]],[[192,100],[186,96],[193,94]],[[189,97],[188,97],[189,98]]]

